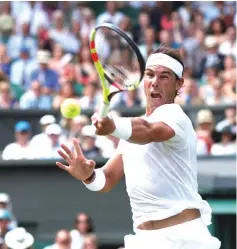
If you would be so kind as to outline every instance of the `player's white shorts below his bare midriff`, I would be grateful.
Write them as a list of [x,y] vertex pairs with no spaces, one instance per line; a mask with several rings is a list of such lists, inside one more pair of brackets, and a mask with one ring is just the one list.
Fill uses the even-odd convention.
[[219,249],[201,218],[158,230],[137,229],[124,237],[125,249]]

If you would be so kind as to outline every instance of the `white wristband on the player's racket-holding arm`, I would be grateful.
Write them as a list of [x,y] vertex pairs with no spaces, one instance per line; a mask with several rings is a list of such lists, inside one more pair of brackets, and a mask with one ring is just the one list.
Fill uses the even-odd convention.
[[112,136],[128,140],[132,136],[132,122],[129,118],[113,117],[116,129]]

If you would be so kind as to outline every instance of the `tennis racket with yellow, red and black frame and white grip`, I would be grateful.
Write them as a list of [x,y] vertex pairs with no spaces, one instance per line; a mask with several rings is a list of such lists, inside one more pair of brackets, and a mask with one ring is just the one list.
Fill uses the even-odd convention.
[[139,86],[145,61],[131,38],[111,23],[92,30],[90,52],[102,85],[103,105],[99,116],[104,118],[116,93],[132,91]]

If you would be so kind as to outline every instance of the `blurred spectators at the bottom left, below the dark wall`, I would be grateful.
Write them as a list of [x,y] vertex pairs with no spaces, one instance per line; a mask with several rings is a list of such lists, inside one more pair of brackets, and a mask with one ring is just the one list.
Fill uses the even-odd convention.
[[[19,227],[14,217],[10,196],[0,193],[0,249],[33,249],[34,235]],[[54,243],[44,249],[98,249],[93,220],[86,213],[78,213],[72,229],[56,232]]]

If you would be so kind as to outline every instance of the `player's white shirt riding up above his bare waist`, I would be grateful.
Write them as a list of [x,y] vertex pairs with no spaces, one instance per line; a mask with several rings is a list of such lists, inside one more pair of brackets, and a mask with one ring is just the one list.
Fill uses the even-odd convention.
[[145,221],[190,208],[199,209],[204,223],[211,224],[211,208],[198,194],[197,137],[190,119],[177,104],[162,105],[142,118],[149,123],[164,122],[175,136],[145,145],[119,143],[134,230]]

